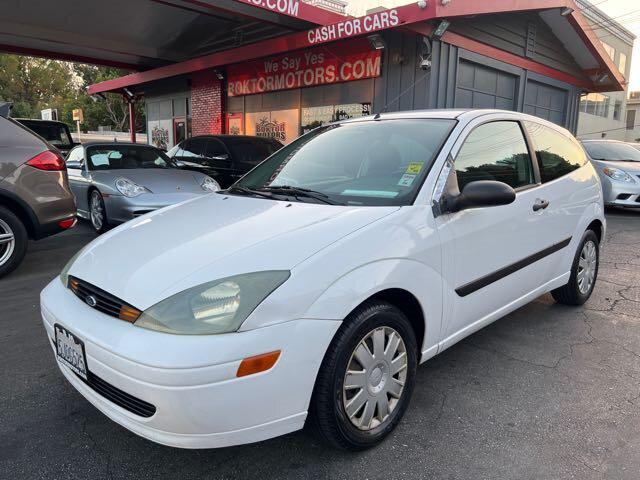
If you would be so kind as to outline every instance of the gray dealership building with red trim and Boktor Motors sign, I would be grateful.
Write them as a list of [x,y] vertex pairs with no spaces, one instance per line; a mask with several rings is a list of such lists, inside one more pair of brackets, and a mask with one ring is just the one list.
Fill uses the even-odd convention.
[[[99,25],[83,21],[86,3],[67,12],[73,31],[0,31],[0,50],[135,70],[89,93],[144,102],[149,141],[164,148],[217,133],[286,143],[334,120],[426,108],[522,111],[575,132],[581,95],[625,86],[573,0],[423,0],[361,17],[328,0],[114,0],[122,9]],[[7,25],[57,15],[20,5]]]

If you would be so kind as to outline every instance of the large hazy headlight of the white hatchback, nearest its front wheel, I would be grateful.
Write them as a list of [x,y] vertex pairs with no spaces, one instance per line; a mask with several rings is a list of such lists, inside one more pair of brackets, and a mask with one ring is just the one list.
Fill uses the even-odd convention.
[[234,332],[289,275],[270,270],[204,283],[156,303],[135,325],[182,335]]

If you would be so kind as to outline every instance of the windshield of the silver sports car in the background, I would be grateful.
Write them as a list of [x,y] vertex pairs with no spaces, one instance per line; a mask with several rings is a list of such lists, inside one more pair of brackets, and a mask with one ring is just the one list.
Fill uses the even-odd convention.
[[87,159],[90,170],[174,168],[173,162],[163,152],[143,145],[89,147]]

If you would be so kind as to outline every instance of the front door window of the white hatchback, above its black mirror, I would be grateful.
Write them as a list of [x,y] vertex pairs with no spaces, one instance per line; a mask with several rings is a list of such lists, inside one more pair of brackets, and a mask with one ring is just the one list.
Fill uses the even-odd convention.
[[533,164],[517,122],[480,125],[464,141],[455,160],[460,190],[476,180],[497,180],[513,188],[533,184]]

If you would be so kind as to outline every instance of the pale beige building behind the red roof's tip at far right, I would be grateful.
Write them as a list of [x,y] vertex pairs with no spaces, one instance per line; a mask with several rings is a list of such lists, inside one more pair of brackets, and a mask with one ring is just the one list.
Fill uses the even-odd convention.
[[[578,0],[587,21],[593,26],[593,31],[600,40],[612,47],[613,63],[620,65],[621,55],[626,56],[626,65],[621,73],[626,79],[631,72],[631,55],[635,37],[631,32],[623,28],[618,22],[604,14],[593,4],[585,0]],[[627,91],[605,92],[602,95],[608,98],[608,108],[600,108],[594,100],[600,100],[598,94],[583,97],[579,108],[578,119],[579,138],[607,138],[612,140],[625,140],[626,138],[626,112]]]

